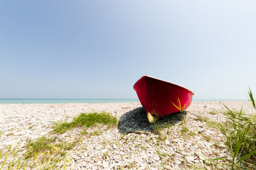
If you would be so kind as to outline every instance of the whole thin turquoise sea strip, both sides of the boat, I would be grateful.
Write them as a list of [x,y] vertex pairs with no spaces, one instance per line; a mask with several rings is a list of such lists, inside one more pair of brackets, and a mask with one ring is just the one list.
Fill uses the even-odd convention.
[[[243,99],[193,99],[193,101],[244,101]],[[129,103],[139,99],[0,99],[2,104],[33,103]]]

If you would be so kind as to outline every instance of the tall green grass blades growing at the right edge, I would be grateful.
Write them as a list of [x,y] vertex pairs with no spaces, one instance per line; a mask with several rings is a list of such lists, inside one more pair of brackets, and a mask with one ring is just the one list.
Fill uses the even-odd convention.
[[[249,90],[248,94],[256,110],[252,91]],[[219,129],[225,135],[226,144],[231,152],[231,169],[241,168],[244,164],[256,167],[256,114],[245,115],[242,114],[242,108],[236,112],[225,107],[228,121],[225,125],[220,125]]]

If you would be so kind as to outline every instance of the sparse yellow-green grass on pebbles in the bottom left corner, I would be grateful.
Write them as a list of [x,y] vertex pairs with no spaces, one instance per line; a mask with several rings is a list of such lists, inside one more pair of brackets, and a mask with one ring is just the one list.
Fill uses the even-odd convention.
[[18,145],[6,146],[0,149],[0,169],[65,169],[70,164],[66,150],[74,145],[74,141],[56,143],[56,137],[42,137],[28,141],[24,157]]

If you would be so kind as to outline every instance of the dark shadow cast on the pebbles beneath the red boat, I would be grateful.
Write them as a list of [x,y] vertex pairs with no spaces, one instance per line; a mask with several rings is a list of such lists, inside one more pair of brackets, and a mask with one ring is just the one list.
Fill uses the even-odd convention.
[[186,118],[187,112],[173,113],[166,117],[161,117],[154,124],[150,124],[147,119],[147,112],[143,107],[128,111],[118,121],[118,131],[121,133],[147,133],[154,132],[156,129],[163,129],[170,125],[179,123]]

